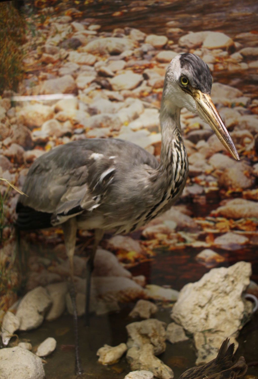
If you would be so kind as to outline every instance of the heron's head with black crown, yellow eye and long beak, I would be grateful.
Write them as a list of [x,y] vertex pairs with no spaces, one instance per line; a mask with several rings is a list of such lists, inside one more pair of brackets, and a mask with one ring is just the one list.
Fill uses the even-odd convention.
[[177,55],[170,62],[163,89],[166,108],[187,108],[210,125],[228,152],[239,160],[238,152],[225,127],[211,93],[212,78],[210,69],[199,56],[191,53]]

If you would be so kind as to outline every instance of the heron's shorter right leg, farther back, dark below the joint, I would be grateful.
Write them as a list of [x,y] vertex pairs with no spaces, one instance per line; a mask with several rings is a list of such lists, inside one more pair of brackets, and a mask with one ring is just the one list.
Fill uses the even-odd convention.
[[94,233],[94,244],[91,254],[86,263],[86,301],[85,301],[85,326],[89,326],[89,303],[91,296],[91,273],[94,269],[94,258],[96,254],[97,247],[102,240],[104,232],[102,229],[95,229]]

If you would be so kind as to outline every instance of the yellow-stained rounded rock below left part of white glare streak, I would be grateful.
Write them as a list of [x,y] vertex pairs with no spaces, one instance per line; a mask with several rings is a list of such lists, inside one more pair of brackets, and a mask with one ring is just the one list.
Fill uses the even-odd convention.
[[19,118],[29,128],[41,127],[43,122],[53,118],[54,111],[51,106],[31,104],[24,106],[19,112]]

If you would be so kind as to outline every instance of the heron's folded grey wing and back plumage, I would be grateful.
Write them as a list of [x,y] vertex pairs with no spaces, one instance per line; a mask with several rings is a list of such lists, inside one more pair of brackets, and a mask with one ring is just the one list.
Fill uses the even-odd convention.
[[[118,139],[85,139],[58,146],[34,161],[19,202],[37,211],[52,213],[52,225],[100,205],[117,167],[124,164],[157,165],[140,147]],[[128,158],[130,161],[128,161]]]

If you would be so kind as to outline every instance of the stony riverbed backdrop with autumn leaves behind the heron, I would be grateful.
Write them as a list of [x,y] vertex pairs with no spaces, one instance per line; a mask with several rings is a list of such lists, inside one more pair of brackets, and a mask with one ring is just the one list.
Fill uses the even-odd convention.
[[[178,290],[190,280],[197,281],[211,268],[238,260],[252,263],[253,282],[248,291],[257,296],[257,31],[251,22],[244,31],[231,28],[227,33],[208,25],[199,30],[194,20],[189,24],[192,28],[186,29],[184,19],[169,20],[167,15],[162,28],[136,28],[129,16],[146,12],[152,5],[149,1],[134,5],[135,9],[127,4],[111,12],[117,20],[112,28],[100,11],[99,16],[97,12],[89,15],[72,3],[63,8],[59,3],[48,8],[38,4],[27,16],[25,78],[17,93],[5,91],[0,99],[0,177],[21,189],[34,159],[59,144],[84,138],[125,139],[159,159],[159,106],[166,67],[178,53],[194,53],[210,67],[211,97],[240,161],[228,155],[205,122],[183,109],[181,127],[190,170],[181,200],[133,235],[105,235],[96,256],[91,310],[101,317],[120,312],[127,302],[139,298],[150,300],[152,306],[170,307],[178,299]],[[128,23],[122,23],[126,13]],[[23,233],[22,249],[28,254],[25,291],[30,292],[10,308],[18,298],[13,288],[21,283],[13,259],[16,247],[11,226],[18,194],[5,182],[1,182],[1,193],[5,227],[0,317],[11,311],[9,332],[13,334],[17,329],[38,327],[44,317],[50,321],[71,312],[66,282],[69,265],[61,230]],[[91,237],[88,231],[78,233],[74,264],[80,315]],[[29,296],[44,299],[44,304],[32,301],[33,307],[26,305]],[[151,306],[143,309],[134,312],[142,318],[141,312],[149,316],[155,312]],[[33,321],[28,313],[35,316]]]

